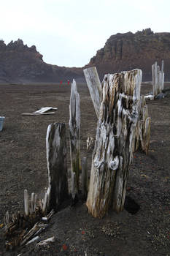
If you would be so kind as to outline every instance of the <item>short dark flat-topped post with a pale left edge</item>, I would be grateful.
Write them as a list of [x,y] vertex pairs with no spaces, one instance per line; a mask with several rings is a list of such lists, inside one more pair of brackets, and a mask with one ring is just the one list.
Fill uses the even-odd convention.
[[[49,208],[57,209],[68,197],[66,166],[66,125],[55,123],[47,128],[47,170],[49,187],[45,201],[49,198]],[[49,196],[48,196],[49,195]],[[46,203],[45,203],[46,204]],[[44,208],[47,207],[44,204]],[[43,209],[45,211],[45,209]]]

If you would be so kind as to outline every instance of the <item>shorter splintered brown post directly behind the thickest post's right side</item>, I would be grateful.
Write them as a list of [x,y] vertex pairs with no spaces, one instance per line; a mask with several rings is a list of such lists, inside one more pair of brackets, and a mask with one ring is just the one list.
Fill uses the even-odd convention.
[[140,99],[138,111],[139,121],[136,125],[134,151],[137,151],[138,148],[142,148],[142,151],[147,154],[150,147],[150,117],[144,96]]

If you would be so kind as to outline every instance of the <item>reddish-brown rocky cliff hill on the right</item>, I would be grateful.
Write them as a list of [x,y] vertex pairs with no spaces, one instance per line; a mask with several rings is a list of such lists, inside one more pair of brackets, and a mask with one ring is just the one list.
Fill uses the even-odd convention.
[[88,66],[96,66],[103,78],[106,72],[120,72],[139,68],[143,80],[152,80],[152,64],[164,60],[166,80],[170,80],[170,33],[153,33],[151,29],[135,34],[115,34],[109,37],[104,48],[97,51]]

